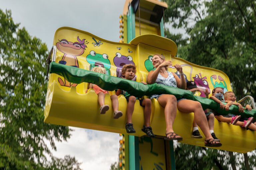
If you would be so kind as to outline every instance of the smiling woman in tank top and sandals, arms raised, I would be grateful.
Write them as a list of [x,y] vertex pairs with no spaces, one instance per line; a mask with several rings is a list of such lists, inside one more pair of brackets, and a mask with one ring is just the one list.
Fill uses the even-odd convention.
[[[148,83],[158,83],[172,87],[186,89],[186,80],[182,67],[175,64],[174,67],[180,73],[180,78],[173,72],[168,72],[168,67],[172,65],[171,61],[165,61],[160,54],[155,54],[152,60],[155,70],[151,70],[148,74]],[[201,104],[197,101],[180,99],[177,101],[174,95],[162,94],[153,95],[151,98],[156,98],[159,104],[164,107],[165,122],[166,122],[166,140],[181,140],[182,137],[173,131],[172,125],[176,117],[176,107],[183,113],[194,113],[194,118],[197,125],[201,128],[205,135],[205,146],[218,147],[222,144],[212,138],[210,129],[208,127],[207,118],[204,114]]]

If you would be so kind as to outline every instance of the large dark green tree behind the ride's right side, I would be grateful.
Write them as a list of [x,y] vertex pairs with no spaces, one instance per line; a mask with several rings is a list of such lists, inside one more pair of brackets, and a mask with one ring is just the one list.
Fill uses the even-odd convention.
[[[177,41],[177,56],[225,72],[230,78],[237,99],[245,95],[255,98],[256,2],[254,0],[165,0],[165,2],[168,4],[168,9],[165,10],[165,22],[171,24],[173,28],[186,31],[186,35],[181,36],[165,30],[167,38]],[[181,145],[176,149],[186,149],[184,147]],[[198,152],[199,148],[190,149],[189,153],[196,157],[193,153]],[[221,165],[218,166],[219,169],[226,167],[252,169],[256,166],[255,151],[244,154],[244,159],[241,159],[241,154],[235,152],[220,150],[215,152],[213,149],[207,151],[219,155],[217,156]],[[220,155],[226,157],[223,159],[225,167],[220,161]],[[179,165],[180,162],[177,161],[176,164]],[[217,165],[217,162],[214,164]],[[215,165],[212,164],[212,167]],[[200,163],[197,166],[200,166]]]

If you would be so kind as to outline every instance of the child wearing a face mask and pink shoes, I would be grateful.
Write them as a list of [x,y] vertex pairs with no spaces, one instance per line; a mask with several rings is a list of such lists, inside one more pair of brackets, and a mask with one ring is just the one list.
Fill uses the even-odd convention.
[[[223,101],[223,89],[220,87],[216,87],[212,90],[212,96],[210,99],[214,100],[216,103],[220,104],[221,109],[225,109],[226,111],[229,110],[229,106],[233,104],[232,101],[226,100]],[[221,101],[226,102],[227,104],[224,105]],[[220,122],[226,122],[226,123],[231,123],[232,125],[237,125],[241,127],[248,128],[249,125],[252,123],[253,119],[248,119],[247,121],[240,122],[239,119],[241,118],[240,115],[235,116],[232,114],[228,114],[227,116],[220,115],[216,113],[213,110],[210,110],[211,112],[214,113],[215,118],[220,121]]]

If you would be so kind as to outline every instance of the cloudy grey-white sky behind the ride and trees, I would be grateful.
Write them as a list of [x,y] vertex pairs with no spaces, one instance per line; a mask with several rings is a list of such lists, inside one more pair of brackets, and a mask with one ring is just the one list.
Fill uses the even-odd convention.
[[[50,50],[54,33],[60,27],[76,28],[119,42],[119,15],[124,3],[125,0],[1,0],[0,8],[10,9],[14,22],[45,42]],[[118,160],[119,134],[72,129],[74,131],[67,142],[57,143],[54,155],[75,156],[83,162],[82,169],[109,170],[110,165]]]

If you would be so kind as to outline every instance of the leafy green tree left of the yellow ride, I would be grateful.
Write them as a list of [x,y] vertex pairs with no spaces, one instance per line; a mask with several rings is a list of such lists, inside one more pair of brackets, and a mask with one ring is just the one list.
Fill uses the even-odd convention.
[[45,43],[19,28],[11,11],[0,10],[0,26],[0,169],[59,168],[66,162],[79,168],[75,158],[54,157],[45,143],[56,150],[55,141],[70,137],[68,127],[43,123]]

